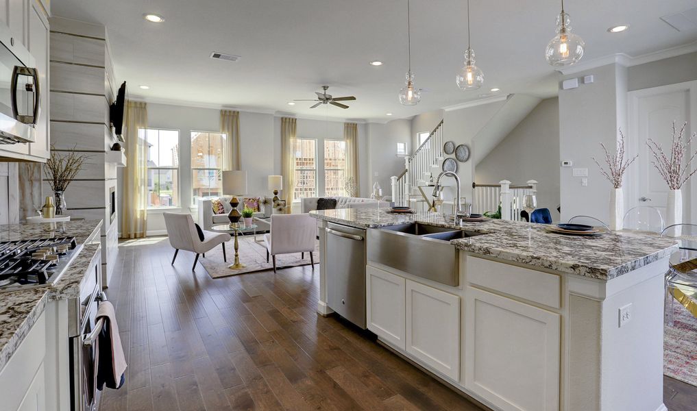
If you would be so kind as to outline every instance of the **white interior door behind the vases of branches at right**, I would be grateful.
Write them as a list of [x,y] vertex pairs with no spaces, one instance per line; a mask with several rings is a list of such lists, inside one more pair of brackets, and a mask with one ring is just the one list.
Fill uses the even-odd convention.
[[[654,206],[666,217],[666,203],[668,201],[668,185],[661,178],[659,172],[651,164],[654,161],[651,150],[647,146],[648,139],[659,144],[666,155],[670,155],[672,124],[682,127],[687,121],[687,127],[683,139],[689,138],[692,131],[697,129],[696,105],[697,82],[671,84],[632,91],[629,93],[629,132],[627,133],[627,145],[631,155],[638,154],[636,164],[625,178],[625,184],[629,189],[629,208],[635,206]],[[695,150],[697,144],[692,144],[691,150]],[[697,190],[694,189],[695,180],[682,187],[683,221],[694,222],[696,215],[691,215],[692,197]]]

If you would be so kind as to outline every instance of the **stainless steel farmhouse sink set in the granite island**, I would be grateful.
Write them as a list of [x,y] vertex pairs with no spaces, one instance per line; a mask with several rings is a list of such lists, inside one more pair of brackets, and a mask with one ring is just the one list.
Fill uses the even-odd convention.
[[441,284],[459,286],[459,259],[450,241],[481,234],[420,223],[372,228],[367,233],[367,259]]

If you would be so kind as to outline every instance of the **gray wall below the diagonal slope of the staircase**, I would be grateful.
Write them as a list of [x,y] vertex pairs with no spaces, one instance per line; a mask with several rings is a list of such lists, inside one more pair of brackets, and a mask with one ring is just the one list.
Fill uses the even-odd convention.
[[523,184],[537,180],[537,204],[559,219],[559,104],[542,100],[489,155],[475,167],[475,181],[498,184],[500,180]]

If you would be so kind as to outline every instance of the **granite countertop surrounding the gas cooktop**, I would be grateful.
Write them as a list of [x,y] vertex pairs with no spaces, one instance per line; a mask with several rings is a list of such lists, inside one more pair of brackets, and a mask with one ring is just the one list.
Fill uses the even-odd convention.
[[[62,226],[62,224],[65,224]],[[54,236],[75,237],[83,245],[75,260],[52,286],[0,293],[0,370],[20,346],[26,334],[43,313],[49,300],[63,300],[79,293],[89,263],[100,250],[101,220],[51,224],[9,224],[0,226],[0,241],[29,240]]]

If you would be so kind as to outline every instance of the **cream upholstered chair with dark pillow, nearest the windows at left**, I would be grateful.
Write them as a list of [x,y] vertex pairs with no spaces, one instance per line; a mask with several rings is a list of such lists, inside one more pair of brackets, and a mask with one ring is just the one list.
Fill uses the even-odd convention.
[[[227,261],[225,242],[231,238],[228,233],[214,233],[213,231],[205,230],[199,233],[196,224],[194,224],[194,219],[192,219],[189,213],[164,212],[162,214],[164,215],[164,225],[167,227],[169,244],[174,247],[172,265],[174,265],[179,250],[191,251],[196,253],[194,265],[191,267],[193,271],[196,268],[196,263],[199,261],[199,254],[204,254],[205,257],[207,251],[219,244],[222,245],[223,261]],[[201,238],[201,235],[203,238]]]

